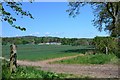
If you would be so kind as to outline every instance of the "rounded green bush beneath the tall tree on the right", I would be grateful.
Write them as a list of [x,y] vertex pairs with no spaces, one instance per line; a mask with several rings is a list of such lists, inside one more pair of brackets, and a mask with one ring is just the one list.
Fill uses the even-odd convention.
[[114,37],[95,37],[94,45],[97,50],[105,53],[105,48],[108,48],[109,53],[115,53],[118,48],[117,40]]

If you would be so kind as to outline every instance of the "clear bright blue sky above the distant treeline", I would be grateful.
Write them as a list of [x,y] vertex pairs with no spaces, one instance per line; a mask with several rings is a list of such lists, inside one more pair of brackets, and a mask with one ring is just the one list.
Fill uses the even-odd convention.
[[35,19],[17,16],[10,8],[17,21],[15,24],[25,27],[26,31],[20,31],[11,27],[7,22],[2,23],[2,36],[54,36],[69,38],[93,38],[95,36],[107,36],[106,32],[99,32],[92,24],[93,11],[89,5],[80,8],[80,15],[72,18],[66,10],[67,2],[24,2],[23,9],[30,11]]

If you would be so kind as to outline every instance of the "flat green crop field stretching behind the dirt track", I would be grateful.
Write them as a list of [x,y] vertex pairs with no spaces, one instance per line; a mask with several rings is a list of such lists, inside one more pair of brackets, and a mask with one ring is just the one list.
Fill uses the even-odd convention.
[[[10,45],[2,46],[2,56],[9,58]],[[45,60],[84,53],[90,48],[86,46],[69,45],[17,45],[17,55],[20,60]]]

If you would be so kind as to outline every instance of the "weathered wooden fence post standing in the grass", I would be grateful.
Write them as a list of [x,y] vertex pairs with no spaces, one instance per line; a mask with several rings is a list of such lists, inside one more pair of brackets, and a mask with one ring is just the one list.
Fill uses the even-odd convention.
[[17,68],[17,50],[16,45],[10,45],[10,72],[15,72]]

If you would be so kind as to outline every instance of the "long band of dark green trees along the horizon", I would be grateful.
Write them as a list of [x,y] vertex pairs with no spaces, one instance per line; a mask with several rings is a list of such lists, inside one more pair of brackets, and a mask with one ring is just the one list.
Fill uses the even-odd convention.
[[59,38],[59,37],[36,37],[36,36],[22,36],[22,37],[4,37],[2,44],[39,44],[39,43],[61,43],[61,45],[92,45],[93,39],[88,38]]

